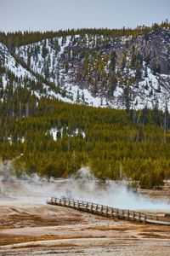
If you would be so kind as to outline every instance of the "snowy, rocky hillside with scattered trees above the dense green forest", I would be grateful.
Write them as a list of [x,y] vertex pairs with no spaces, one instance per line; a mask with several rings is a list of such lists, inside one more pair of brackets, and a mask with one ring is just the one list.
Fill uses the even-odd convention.
[[102,108],[163,109],[170,102],[168,28],[136,38],[74,34],[44,39],[16,47],[15,55],[30,71],[0,44],[5,68],[19,78],[42,78],[43,92],[37,85],[37,96]]

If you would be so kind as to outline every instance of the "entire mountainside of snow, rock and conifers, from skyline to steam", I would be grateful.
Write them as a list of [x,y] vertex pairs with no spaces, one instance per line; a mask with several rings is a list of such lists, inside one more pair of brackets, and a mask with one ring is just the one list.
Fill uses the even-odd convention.
[[160,186],[170,178],[169,35],[168,22],[1,32],[2,162],[18,176],[70,177],[84,165]]

